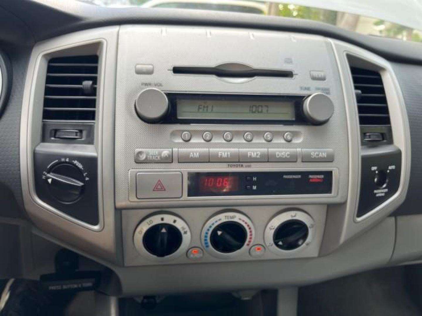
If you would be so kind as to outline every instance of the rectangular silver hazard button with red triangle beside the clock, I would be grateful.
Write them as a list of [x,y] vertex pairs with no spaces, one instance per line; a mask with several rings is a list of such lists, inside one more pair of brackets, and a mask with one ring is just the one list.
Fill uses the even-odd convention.
[[136,174],[138,198],[180,198],[181,172],[138,172]]

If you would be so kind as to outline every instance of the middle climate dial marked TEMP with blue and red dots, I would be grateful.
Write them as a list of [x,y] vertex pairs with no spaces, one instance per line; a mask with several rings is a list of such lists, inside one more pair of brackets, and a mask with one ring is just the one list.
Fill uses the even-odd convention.
[[230,258],[246,251],[253,239],[251,220],[238,212],[218,214],[209,219],[202,230],[205,250],[218,258]]

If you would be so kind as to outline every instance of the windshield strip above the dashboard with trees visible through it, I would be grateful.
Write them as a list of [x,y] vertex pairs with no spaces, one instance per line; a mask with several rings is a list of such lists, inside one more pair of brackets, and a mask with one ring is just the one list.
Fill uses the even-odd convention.
[[422,41],[420,0],[296,0],[274,3],[253,0],[81,0],[113,8],[183,8],[231,11],[307,19],[365,35]]

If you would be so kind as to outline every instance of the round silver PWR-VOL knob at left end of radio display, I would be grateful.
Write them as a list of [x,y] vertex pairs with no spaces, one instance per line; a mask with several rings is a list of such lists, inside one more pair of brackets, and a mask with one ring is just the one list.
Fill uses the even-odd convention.
[[138,95],[135,110],[146,123],[160,122],[169,110],[167,96],[157,88],[147,88]]

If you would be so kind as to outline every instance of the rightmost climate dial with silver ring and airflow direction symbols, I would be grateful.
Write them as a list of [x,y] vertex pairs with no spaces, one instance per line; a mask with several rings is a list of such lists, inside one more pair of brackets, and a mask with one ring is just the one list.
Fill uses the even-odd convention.
[[276,254],[299,251],[311,244],[314,220],[301,210],[292,209],[274,217],[265,228],[268,249]]

